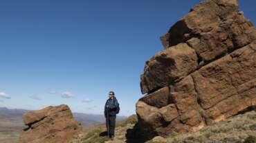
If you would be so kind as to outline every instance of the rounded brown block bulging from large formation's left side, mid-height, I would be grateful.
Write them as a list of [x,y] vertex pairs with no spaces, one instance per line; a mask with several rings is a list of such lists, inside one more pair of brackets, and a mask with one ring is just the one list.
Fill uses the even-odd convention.
[[140,87],[143,94],[173,83],[197,67],[197,56],[187,44],[176,45],[157,53],[147,61]]

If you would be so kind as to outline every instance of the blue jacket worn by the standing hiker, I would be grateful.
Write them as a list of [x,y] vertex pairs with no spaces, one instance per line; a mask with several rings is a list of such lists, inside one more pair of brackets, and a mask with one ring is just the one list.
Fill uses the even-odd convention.
[[119,103],[116,97],[113,97],[113,99],[108,99],[104,108],[105,117],[107,118],[107,115],[116,115],[118,106]]

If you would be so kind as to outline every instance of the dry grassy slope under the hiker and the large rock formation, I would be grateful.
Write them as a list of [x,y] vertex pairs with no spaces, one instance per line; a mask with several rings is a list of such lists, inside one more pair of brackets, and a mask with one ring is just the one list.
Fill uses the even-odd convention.
[[[133,117],[134,118],[134,117]],[[129,118],[131,120],[131,118]],[[134,127],[134,121],[118,123],[116,137],[109,140],[104,136],[104,124],[95,126],[91,131],[81,133],[72,143],[122,143],[141,142],[127,138],[127,131]],[[203,129],[191,133],[173,133],[167,137],[156,136],[147,143],[256,143],[256,112],[250,111],[236,115],[228,120],[205,126]]]

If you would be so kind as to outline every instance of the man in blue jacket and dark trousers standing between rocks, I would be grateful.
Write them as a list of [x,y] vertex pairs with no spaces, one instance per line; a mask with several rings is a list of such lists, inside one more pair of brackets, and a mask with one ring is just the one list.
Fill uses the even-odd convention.
[[115,136],[116,114],[119,113],[119,104],[116,100],[115,93],[109,92],[109,99],[104,108],[104,115],[106,118],[107,135],[113,140]]

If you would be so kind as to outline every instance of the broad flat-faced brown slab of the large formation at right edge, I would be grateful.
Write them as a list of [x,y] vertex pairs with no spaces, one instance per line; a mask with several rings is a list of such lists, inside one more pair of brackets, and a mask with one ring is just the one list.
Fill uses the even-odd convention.
[[209,124],[256,104],[256,52],[252,46],[256,47],[247,45],[192,74]]

